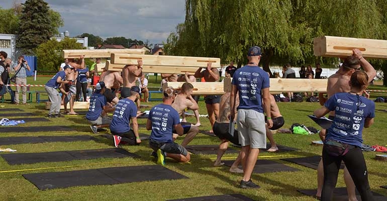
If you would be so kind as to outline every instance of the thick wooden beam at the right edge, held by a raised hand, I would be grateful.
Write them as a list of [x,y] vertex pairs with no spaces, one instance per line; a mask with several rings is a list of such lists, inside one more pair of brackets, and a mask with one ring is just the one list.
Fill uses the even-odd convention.
[[352,49],[359,49],[363,57],[387,59],[387,40],[322,36],[313,40],[315,56],[346,57]]

